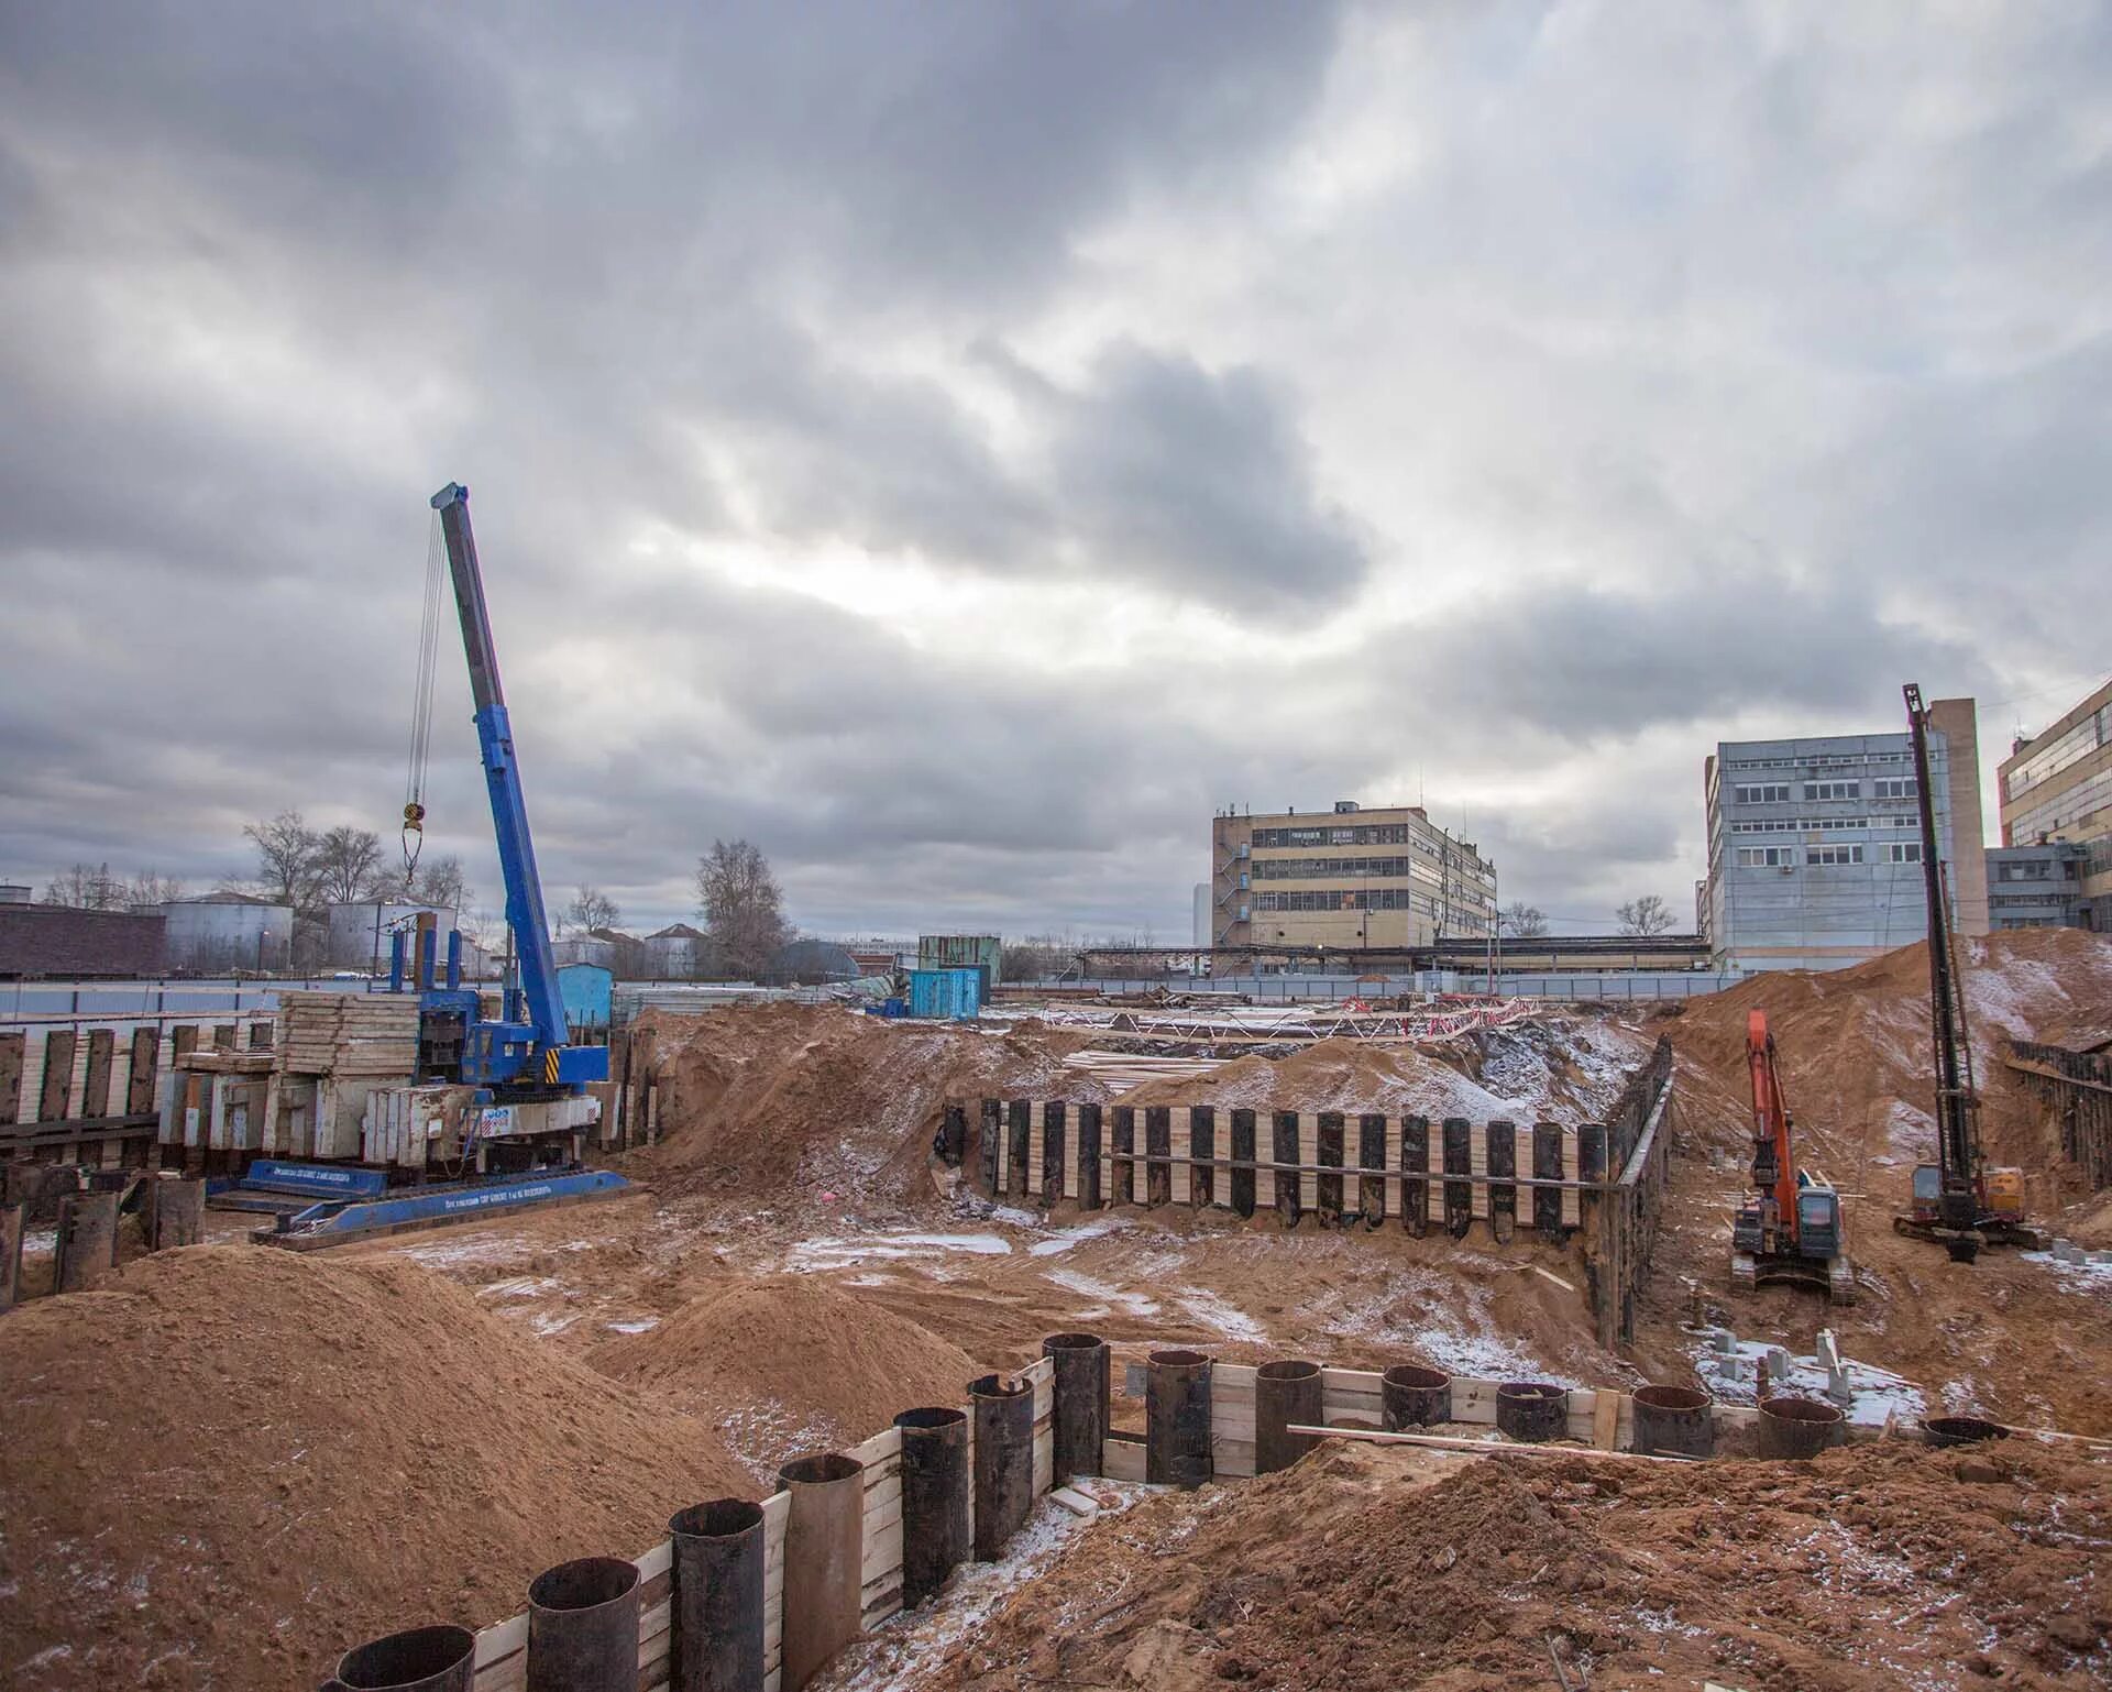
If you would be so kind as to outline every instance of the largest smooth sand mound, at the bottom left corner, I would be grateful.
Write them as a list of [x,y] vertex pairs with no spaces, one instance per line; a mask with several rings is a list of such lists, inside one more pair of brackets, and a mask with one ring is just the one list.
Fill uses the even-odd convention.
[[0,1320],[0,1681],[313,1686],[750,1491],[714,1430],[410,1263],[144,1259]]

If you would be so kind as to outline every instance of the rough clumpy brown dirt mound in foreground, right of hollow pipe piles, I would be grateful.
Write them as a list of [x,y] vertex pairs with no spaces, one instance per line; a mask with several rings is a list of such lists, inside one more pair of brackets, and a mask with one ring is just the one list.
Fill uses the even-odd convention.
[[1554,1684],[1548,1635],[1592,1686],[2101,1684],[2112,1474],[2042,1447],[1994,1464],[1328,1451],[1092,1525],[919,1684],[1510,1692]]

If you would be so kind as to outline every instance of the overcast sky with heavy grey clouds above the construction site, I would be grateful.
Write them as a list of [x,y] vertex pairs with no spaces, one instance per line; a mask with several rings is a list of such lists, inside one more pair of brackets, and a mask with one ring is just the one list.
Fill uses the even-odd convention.
[[[1415,803],[1565,929],[1717,739],[2112,668],[2101,4],[0,0],[0,879],[393,849],[471,488],[545,883],[1185,940]],[[429,805],[498,868],[444,632]]]

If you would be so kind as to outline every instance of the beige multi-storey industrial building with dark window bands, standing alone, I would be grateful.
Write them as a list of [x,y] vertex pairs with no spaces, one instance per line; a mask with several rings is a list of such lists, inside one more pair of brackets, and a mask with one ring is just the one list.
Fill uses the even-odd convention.
[[1495,864],[1421,805],[1210,820],[1210,944],[1377,951],[1481,940]]

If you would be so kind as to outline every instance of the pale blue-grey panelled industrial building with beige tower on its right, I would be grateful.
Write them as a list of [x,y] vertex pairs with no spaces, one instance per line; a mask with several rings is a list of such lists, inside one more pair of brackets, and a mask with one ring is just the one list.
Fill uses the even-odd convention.
[[[1928,708],[1937,851],[1960,934],[1987,932],[1979,735],[1970,699]],[[1732,970],[1840,970],[1928,932],[1913,741],[1719,741],[1702,763],[1704,932]]]

